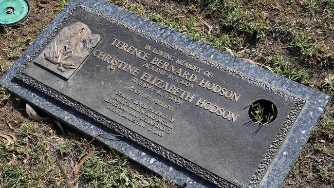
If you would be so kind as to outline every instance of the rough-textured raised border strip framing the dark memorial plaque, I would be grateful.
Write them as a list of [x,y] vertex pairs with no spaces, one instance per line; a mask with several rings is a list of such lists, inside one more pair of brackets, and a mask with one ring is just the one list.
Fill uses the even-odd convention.
[[168,41],[164,41],[161,39],[158,39],[157,37],[144,32],[140,29],[137,29],[135,27],[132,27],[131,25],[127,25],[124,24],[112,17],[109,17],[99,11],[96,11],[94,9],[91,9],[89,7],[86,7],[82,4],[77,4],[75,8],[73,8],[71,10],[70,13],[68,13],[65,18],[63,19],[62,22],[60,22],[60,24],[53,30],[53,32],[49,35],[49,37],[47,38],[47,40],[43,43],[43,45],[41,45],[38,49],[35,50],[35,52],[33,53],[32,56],[30,56],[27,61],[22,65],[22,67],[20,68],[19,71],[16,72],[16,74],[14,75],[15,78],[23,81],[26,84],[31,85],[32,87],[34,87],[35,89],[38,89],[44,93],[46,93],[48,96],[63,102],[64,104],[72,107],[73,109],[76,109],[80,112],[82,112],[83,114],[85,114],[86,116],[90,117],[91,119],[94,119],[95,121],[102,123],[106,126],[108,126],[109,128],[115,130],[118,134],[121,134],[135,142],[137,142],[138,144],[146,147],[147,149],[150,149],[151,151],[163,156],[166,159],[169,159],[170,161],[182,166],[183,168],[189,170],[190,172],[214,183],[217,184],[219,187],[244,187],[244,185],[236,185],[235,182],[229,182],[227,180],[225,180],[224,178],[221,178],[211,172],[209,172],[208,170],[206,170],[203,167],[198,166],[197,164],[182,158],[180,156],[178,156],[177,154],[169,151],[168,149],[142,137],[141,135],[135,133],[132,130],[129,130],[127,128],[125,128],[124,126],[114,122],[113,120],[110,120],[109,118],[102,116],[101,114],[98,114],[98,112],[80,104],[79,102],[70,99],[69,97],[63,95],[62,93],[53,90],[52,88],[26,76],[22,71],[33,61],[33,59],[36,57],[36,55],[38,55],[53,39],[53,37],[62,29],[63,25],[68,21],[68,19],[71,17],[71,15],[78,9],[78,8],[82,8],[85,11],[88,11],[90,13],[96,14],[98,16],[100,16],[101,18],[104,18],[105,20],[109,21],[109,22],[113,22],[121,27],[124,27],[126,29],[129,29],[133,32],[139,33],[142,36],[146,37],[147,39],[151,39],[155,42],[158,42],[166,47],[172,48],[174,50],[177,50],[180,53],[183,53],[185,55],[188,55],[189,57],[192,57],[204,64],[207,64],[209,66],[213,66],[221,71],[227,72],[229,74],[232,74],[233,76],[247,81],[251,84],[253,84],[254,86],[258,86],[261,88],[264,88],[268,91],[271,91],[273,93],[275,93],[276,95],[279,95],[281,97],[284,97],[288,100],[291,100],[294,102],[293,107],[291,108],[288,117],[286,118],[285,122],[283,123],[283,125],[281,126],[279,132],[277,133],[276,137],[274,138],[272,144],[270,145],[266,155],[264,156],[264,158],[262,159],[262,162],[259,164],[256,172],[254,173],[250,183],[247,185],[247,187],[251,188],[251,187],[256,187],[258,185],[258,183],[261,181],[262,177],[264,176],[264,174],[266,173],[267,167],[270,165],[270,162],[272,160],[272,158],[274,157],[277,149],[280,147],[280,144],[283,142],[285,136],[287,135],[290,127],[293,125],[294,120],[296,119],[296,117],[299,115],[300,111],[302,110],[304,104],[305,104],[305,100],[300,99],[298,97],[295,97],[293,95],[290,95],[289,93],[282,91],[280,89],[274,88],[269,84],[266,84],[264,82],[261,82],[259,80],[256,80],[252,77],[247,76],[246,74],[236,71],[234,69],[228,68],[227,66],[221,65],[219,63],[213,62],[211,60],[208,60],[204,57],[201,57],[200,55],[191,52],[187,49],[183,49],[177,45],[171,44]]

